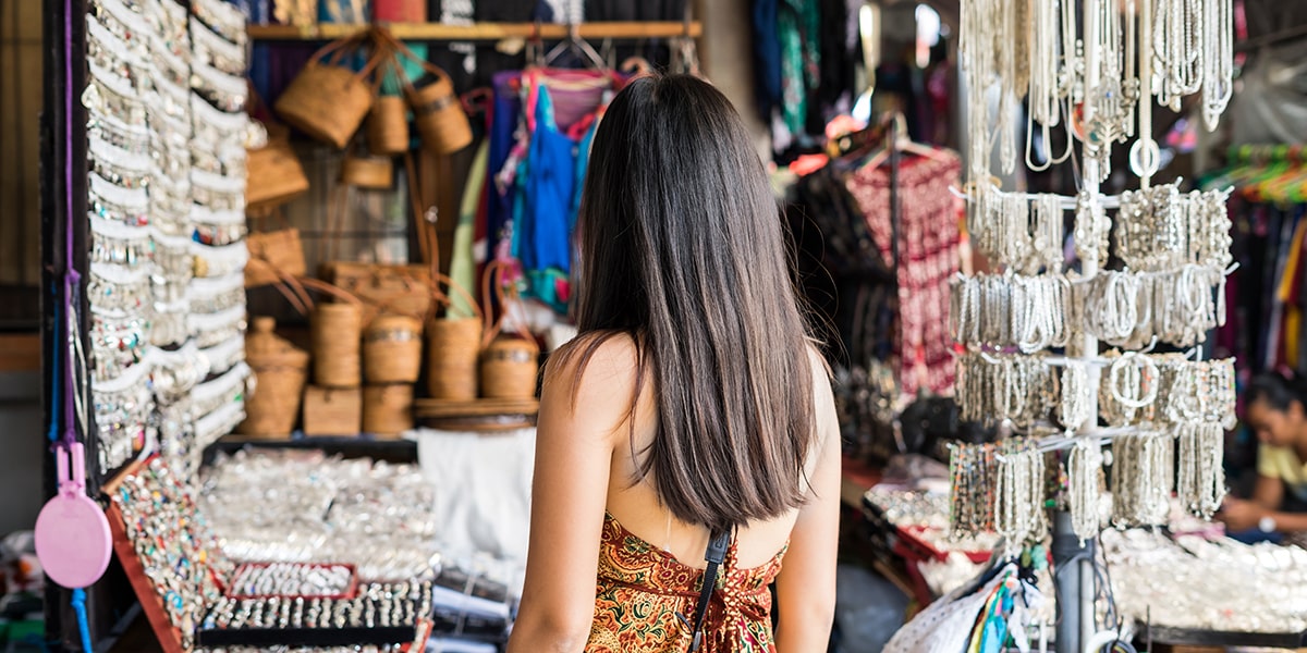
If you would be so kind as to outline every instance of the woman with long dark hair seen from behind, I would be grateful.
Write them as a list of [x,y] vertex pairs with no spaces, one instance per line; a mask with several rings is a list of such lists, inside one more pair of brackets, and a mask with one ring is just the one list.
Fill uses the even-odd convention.
[[627,85],[576,231],[580,336],[545,372],[508,652],[826,650],[835,407],[729,101],[687,76]]

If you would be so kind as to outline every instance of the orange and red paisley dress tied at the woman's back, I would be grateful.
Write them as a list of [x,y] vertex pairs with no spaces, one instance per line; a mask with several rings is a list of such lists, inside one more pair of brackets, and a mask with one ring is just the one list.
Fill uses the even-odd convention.
[[[727,550],[718,590],[703,622],[701,653],[774,653],[771,581],[782,549],[762,567],[741,569],[736,543]],[[703,569],[687,567],[604,515],[595,622],[586,653],[681,653],[689,649]]]

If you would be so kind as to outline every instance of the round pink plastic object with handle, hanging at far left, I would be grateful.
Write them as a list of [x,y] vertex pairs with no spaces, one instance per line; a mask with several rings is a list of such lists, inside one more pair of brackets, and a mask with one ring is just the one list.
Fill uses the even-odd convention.
[[86,496],[86,454],[81,443],[58,447],[55,468],[59,492],[37,517],[37,558],[50,580],[71,589],[86,588],[105,573],[114,552],[108,518]]

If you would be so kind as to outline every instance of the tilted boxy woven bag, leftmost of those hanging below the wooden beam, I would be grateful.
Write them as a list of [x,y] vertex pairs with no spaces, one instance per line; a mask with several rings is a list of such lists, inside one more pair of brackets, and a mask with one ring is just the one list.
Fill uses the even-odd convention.
[[[277,98],[281,118],[308,136],[344,149],[372,106],[367,76],[380,61],[374,56],[362,71],[337,65],[362,37],[328,43],[314,54],[290,86]],[[327,63],[322,59],[331,55]]]

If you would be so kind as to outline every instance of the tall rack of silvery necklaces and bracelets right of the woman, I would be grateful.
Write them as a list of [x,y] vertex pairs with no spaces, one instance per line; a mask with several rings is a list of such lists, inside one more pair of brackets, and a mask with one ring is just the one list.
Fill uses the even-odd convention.
[[[1153,187],[1161,155],[1151,111],[1154,102],[1180,111],[1192,95],[1214,129],[1233,89],[1233,0],[961,7],[967,104],[989,107],[999,91],[996,119],[987,108],[968,114],[967,229],[1004,272],[954,283],[953,334],[967,347],[958,402],[963,415],[1022,438],[953,448],[950,529],[958,537],[997,532],[1009,554],[1051,532],[1059,653],[1086,650],[1104,636],[1094,606],[1104,465],[1117,526],[1165,522],[1176,473],[1180,503],[1197,516],[1210,517],[1225,492],[1233,360],[1189,358],[1225,321],[1225,277],[1233,270],[1227,195]],[[1002,192],[991,176],[993,149],[1002,172],[1016,171],[1023,101],[1029,168],[1063,163],[1081,144],[1074,197]],[[1048,144],[1053,129],[1067,132],[1067,149],[1036,157],[1033,135],[1040,131]],[[1102,195],[1111,148],[1136,136],[1128,158],[1140,189]],[[1069,234],[1067,210],[1074,212]],[[1067,236],[1078,273],[1064,270]],[[1120,270],[1107,269],[1114,240],[1111,252],[1125,263]],[[1104,342],[1120,351],[1100,353]],[[1150,354],[1159,342],[1195,349]],[[1102,451],[1110,443],[1115,460]],[[1053,451],[1068,452],[1067,481],[1057,485],[1050,520],[1047,479],[1060,474],[1046,475],[1044,465]]]

